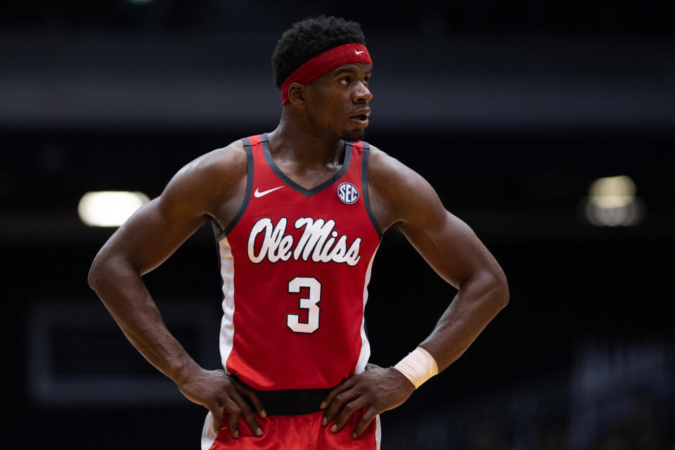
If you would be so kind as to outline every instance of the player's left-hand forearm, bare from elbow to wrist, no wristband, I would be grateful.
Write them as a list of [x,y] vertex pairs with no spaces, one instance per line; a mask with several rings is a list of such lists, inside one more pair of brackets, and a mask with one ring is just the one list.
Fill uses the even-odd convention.
[[89,271],[89,285],[136,349],[179,383],[184,373],[197,368],[183,346],[169,333],[160,311],[141,279],[124,262],[97,260]]

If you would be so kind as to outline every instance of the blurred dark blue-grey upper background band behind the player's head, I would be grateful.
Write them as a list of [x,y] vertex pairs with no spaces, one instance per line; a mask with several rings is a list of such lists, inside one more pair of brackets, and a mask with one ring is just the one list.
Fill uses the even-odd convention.
[[15,2],[0,17],[0,128],[274,122],[276,39],[299,18],[333,13],[363,23],[373,123],[383,129],[671,129],[674,9],[463,0],[345,14],[310,1]]

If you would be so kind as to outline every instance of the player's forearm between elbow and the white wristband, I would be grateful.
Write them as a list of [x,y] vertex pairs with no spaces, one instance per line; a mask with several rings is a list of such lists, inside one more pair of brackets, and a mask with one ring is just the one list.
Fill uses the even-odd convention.
[[438,371],[454,363],[508,303],[503,276],[482,274],[465,281],[433,332],[420,344],[436,360]]

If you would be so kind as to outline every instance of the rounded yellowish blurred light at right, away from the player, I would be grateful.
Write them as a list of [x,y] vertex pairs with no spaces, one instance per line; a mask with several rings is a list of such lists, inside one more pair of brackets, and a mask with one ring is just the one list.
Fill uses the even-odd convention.
[[626,175],[596,179],[584,199],[586,220],[596,226],[635,226],[645,208],[636,195],[635,182]]

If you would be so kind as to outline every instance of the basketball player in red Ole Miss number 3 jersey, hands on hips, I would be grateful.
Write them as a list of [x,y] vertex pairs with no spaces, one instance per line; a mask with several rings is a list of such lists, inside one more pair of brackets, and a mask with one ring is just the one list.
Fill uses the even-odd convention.
[[[373,97],[364,42],[342,19],[293,25],[272,56],[278,127],[179,170],[92,264],[89,283],[129,341],[209,410],[203,450],[376,449],[378,415],[452,364],[508,302],[473,231],[425,179],[360,140]],[[204,221],[224,294],[215,371],[169,334],[141,278]],[[458,293],[424,342],[382,368],[367,364],[364,307],[390,228]]]

